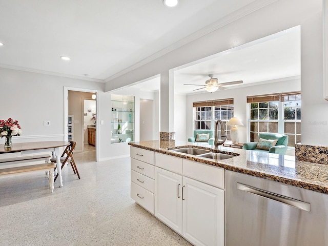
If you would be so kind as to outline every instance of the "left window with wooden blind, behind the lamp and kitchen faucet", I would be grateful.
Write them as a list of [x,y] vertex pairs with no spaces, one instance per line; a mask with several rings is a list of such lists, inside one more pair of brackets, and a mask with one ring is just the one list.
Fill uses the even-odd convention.
[[[193,103],[194,108],[194,130],[214,130],[215,122],[220,119],[224,126],[226,122],[234,116],[233,98],[197,101]],[[228,138],[230,139],[230,129],[232,126],[226,126]],[[220,132],[219,132],[220,134]]]

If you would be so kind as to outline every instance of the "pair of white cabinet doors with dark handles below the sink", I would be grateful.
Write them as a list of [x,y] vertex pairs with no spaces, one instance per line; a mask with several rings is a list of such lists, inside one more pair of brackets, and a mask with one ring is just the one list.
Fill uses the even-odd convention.
[[223,190],[155,167],[155,194],[155,216],[167,226],[196,246],[224,245]]

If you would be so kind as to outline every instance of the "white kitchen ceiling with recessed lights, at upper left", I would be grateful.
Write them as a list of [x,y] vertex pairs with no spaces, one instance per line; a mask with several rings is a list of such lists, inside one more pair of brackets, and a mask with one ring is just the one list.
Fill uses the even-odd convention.
[[268,2],[180,0],[167,8],[162,0],[0,0],[0,67],[105,82]]

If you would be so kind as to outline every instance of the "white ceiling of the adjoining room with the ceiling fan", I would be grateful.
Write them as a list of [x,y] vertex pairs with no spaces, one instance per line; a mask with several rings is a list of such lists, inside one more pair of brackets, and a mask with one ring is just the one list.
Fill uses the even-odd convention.
[[[194,61],[176,68],[174,92],[177,94],[208,93],[195,89],[204,85],[209,74],[219,83],[243,80],[242,85],[224,86],[228,89],[249,86],[253,83],[274,83],[286,78],[299,78],[301,74],[300,27],[255,40],[254,42]],[[160,78],[151,78],[133,85],[141,90],[158,90]]]

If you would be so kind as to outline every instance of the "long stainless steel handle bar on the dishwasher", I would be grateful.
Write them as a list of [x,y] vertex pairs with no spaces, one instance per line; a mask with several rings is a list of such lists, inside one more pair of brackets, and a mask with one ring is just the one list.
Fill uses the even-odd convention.
[[274,201],[278,201],[284,204],[287,204],[289,206],[292,206],[294,208],[300,209],[300,210],[304,210],[307,212],[310,212],[310,203],[308,202],[304,202],[304,201],[300,201],[300,200],[296,200],[287,196],[282,196],[276,193],[272,193],[269,191],[265,191],[265,190],[261,190],[252,186],[248,186],[248,185],[243,185],[242,183],[237,182],[237,189],[244,191],[244,192],[249,192],[267,199],[271,199]]

